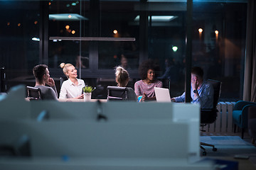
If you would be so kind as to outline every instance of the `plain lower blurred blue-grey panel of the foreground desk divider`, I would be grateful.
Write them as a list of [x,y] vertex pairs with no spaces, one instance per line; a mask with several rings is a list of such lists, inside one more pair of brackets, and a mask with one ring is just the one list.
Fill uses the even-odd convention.
[[13,120],[1,122],[1,126],[5,127],[4,134],[28,135],[32,157],[188,157],[186,123]]

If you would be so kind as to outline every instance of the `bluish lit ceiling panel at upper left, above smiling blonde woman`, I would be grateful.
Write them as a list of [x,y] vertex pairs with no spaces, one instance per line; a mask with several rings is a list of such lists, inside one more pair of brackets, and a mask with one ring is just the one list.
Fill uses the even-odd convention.
[[80,21],[80,20],[88,20],[84,16],[80,16],[77,13],[57,13],[57,14],[49,14],[50,20],[56,21]]

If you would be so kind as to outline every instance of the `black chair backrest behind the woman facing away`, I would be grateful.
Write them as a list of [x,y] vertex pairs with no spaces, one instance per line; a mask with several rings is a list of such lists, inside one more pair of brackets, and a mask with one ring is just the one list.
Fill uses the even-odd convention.
[[127,87],[107,86],[107,100],[109,101],[127,101]]

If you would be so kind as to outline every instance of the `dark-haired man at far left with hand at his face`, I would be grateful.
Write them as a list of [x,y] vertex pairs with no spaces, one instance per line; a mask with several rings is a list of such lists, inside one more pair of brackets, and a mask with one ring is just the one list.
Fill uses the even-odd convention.
[[[42,100],[58,100],[55,82],[50,78],[48,66],[46,64],[39,64],[33,67],[33,75],[36,78],[36,86],[41,89]],[[46,84],[48,86],[46,86]],[[50,86],[50,87],[49,87]]]

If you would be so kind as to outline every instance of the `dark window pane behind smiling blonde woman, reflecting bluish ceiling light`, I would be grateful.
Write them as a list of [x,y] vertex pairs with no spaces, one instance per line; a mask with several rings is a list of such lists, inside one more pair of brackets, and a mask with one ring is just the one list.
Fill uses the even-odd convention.
[[[80,8],[80,6],[83,6]],[[49,37],[89,36],[90,1],[51,1],[49,4]],[[61,62],[73,64],[80,74],[89,69],[89,42],[49,40],[49,67]]]

